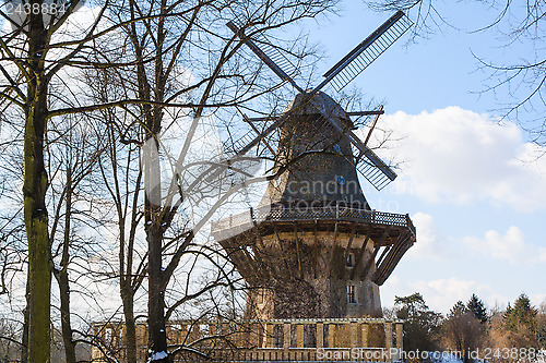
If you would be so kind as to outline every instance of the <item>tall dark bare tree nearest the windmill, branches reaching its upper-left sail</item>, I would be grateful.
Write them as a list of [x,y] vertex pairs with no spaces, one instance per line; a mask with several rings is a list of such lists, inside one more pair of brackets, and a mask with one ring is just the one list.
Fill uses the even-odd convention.
[[[195,130],[203,112],[217,111],[249,102],[259,94],[269,90],[256,83],[256,73],[244,68],[235,55],[240,47],[235,37],[225,37],[225,23],[228,20],[242,17],[246,26],[258,25],[254,32],[278,27],[306,16],[314,16],[325,11],[328,1],[271,2],[266,5],[239,4],[237,2],[178,2],[178,1],[129,1],[120,9],[119,23],[130,22],[124,27],[130,50],[126,57],[134,66],[128,74],[129,83],[124,83],[130,98],[139,99],[142,105],[131,107],[134,124],[139,126],[133,140],[142,147],[143,165],[142,183],[146,191],[143,205],[143,221],[147,239],[147,280],[149,280],[149,328],[150,359],[168,361],[166,318],[173,310],[190,298],[195,298],[217,286],[205,285],[200,291],[183,297],[166,310],[165,291],[171,281],[175,270],[185,255],[197,254],[191,246],[195,234],[213,215],[214,209],[205,214],[193,226],[177,218],[177,211],[189,190],[180,180],[175,180],[162,194],[161,159],[157,154],[163,129],[176,122],[190,121],[187,134],[182,137],[182,148],[176,159],[176,168],[187,162],[188,150],[194,142]],[[134,22],[153,14],[150,20]],[[173,32],[176,29],[176,32]],[[193,39],[200,39],[195,45]],[[146,56],[153,53],[152,61]],[[191,70],[193,80],[181,72],[181,68]],[[180,107],[177,100],[189,100],[191,109]],[[180,104],[180,101],[178,101]],[[175,107],[175,108],[174,108]],[[191,118],[188,116],[191,113]],[[186,117],[186,118],[185,118]],[[127,124],[123,126],[127,128]],[[126,135],[123,131],[121,133]],[[156,153],[156,154],[154,154]],[[180,195],[180,191],[182,194]],[[203,193],[203,190],[200,191]],[[178,223],[178,226],[175,226]],[[167,233],[168,230],[171,233]],[[202,256],[206,254],[200,252]],[[223,277],[218,277],[223,278]]]

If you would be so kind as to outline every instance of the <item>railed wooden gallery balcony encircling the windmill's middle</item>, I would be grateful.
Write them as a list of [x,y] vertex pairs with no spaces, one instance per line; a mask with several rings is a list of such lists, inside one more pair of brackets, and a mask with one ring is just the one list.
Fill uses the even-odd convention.
[[[212,222],[216,241],[245,239],[246,235],[273,233],[274,230],[356,231],[373,243],[372,262],[377,269],[371,280],[383,285],[405,252],[415,243],[416,229],[408,215],[343,205],[301,207],[261,207]],[[370,241],[370,242],[371,242]]]

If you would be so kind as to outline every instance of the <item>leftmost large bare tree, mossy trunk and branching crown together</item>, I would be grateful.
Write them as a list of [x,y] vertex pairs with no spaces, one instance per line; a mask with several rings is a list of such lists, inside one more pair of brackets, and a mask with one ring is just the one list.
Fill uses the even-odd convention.
[[24,119],[23,205],[28,250],[28,359],[32,362],[47,362],[50,355],[52,263],[45,155],[48,124],[66,114],[143,102],[117,99],[112,104],[90,106],[81,98],[78,85],[68,81],[79,68],[115,66],[97,64],[87,56],[97,39],[128,24],[116,24],[104,16],[110,10],[108,0],[95,8],[98,11],[91,13],[87,24],[71,23],[71,15],[82,3],[80,0],[52,4],[29,0],[15,7],[4,2],[7,11],[0,13],[5,23],[12,25],[12,31],[0,36],[0,97],[4,111],[16,108]]

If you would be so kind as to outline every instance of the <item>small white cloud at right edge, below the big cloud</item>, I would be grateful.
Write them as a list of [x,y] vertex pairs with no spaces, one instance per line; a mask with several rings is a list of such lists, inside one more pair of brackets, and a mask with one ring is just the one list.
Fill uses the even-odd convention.
[[484,238],[465,237],[463,244],[474,253],[510,264],[546,263],[546,249],[525,243],[525,235],[515,226],[501,233],[489,230]]

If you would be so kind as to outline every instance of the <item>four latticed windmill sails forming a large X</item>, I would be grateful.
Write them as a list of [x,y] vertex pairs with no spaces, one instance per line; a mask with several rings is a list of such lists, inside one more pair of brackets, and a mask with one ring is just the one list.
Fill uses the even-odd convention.
[[[245,35],[241,28],[234,24],[227,23],[227,26],[239,36],[239,38],[256,53],[283,82],[289,83],[302,96],[302,101],[310,104],[318,110],[324,120],[331,123],[335,130],[347,138],[353,148],[356,150],[354,164],[358,172],[368,180],[377,190],[383,189],[387,184],[396,178],[396,173],[390,168],[379,156],[376,155],[367,145],[356,136],[351,129],[344,128],[334,118],[329,114],[329,111],[314,100],[314,97],[320,90],[332,83],[334,88],[340,92],[358,74],[360,74],[368,65],[370,65],[381,53],[383,53],[394,41],[396,41],[411,26],[412,21],[402,12],[399,11],[392,15],[387,22],[371,33],[366,39],[357,45],[344,58],[335,63],[328,72],[324,73],[324,80],[314,88],[304,90],[282,68],[280,64],[289,64],[284,56],[276,51],[276,48],[270,47],[268,56],[265,51],[260,49],[254,41]],[[347,112],[347,116],[369,116],[381,114],[381,111],[361,111]],[[277,129],[286,121],[287,116],[281,116],[273,119],[273,123],[265,128],[263,132],[258,132],[251,122],[258,119],[247,119],[251,124],[252,130],[244,134],[234,145],[228,147],[232,155],[242,155],[248,153],[252,147]],[[377,120],[376,120],[377,121]],[[258,135],[257,135],[258,132]]]

